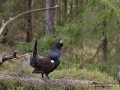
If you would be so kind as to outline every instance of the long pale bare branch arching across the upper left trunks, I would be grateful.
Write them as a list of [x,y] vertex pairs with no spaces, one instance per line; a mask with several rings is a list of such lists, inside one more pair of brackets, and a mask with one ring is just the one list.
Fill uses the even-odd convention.
[[60,7],[60,6],[62,6],[62,4],[61,4],[61,5],[56,5],[56,6],[50,7],[50,8],[42,8],[42,9],[34,9],[34,10],[25,11],[25,12],[23,12],[23,13],[20,13],[20,14],[16,15],[16,16],[13,17],[13,18],[10,18],[10,19],[9,19],[8,21],[6,21],[5,23],[4,23],[4,20],[2,20],[2,26],[1,26],[1,28],[0,28],[0,35],[1,35],[2,31],[4,30],[4,28],[5,28],[5,26],[6,26],[7,24],[9,24],[9,23],[12,22],[13,20],[17,19],[18,17],[20,17],[20,16],[22,16],[22,15],[24,15],[24,14],[31,13],[31,12],[36,12],[36,11],[43,11],[43,10],[55,9],[55,8]]

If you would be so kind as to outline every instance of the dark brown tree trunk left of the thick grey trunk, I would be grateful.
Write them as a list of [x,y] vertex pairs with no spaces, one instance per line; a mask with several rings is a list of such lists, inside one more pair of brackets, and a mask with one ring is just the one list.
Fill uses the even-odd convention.
[[[28,0],[28,10],[33,9],[33,0]],[[27,16],[28,21],[28,29],[27,29],[27,36],[26,42],[31,42],[33,39],[33,13],[29,13]]]

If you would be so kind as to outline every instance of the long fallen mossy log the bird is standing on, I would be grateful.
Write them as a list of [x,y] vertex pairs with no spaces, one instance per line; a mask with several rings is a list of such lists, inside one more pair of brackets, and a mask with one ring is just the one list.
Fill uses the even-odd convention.
[[4,81],[5,80],[12,80],[12,82],[15,81],[20,81],[20,82],[24,82],[27,85],[34,87],[34,86],[38,86],[38,87],[54,87],[54,88],[58,88],[58,87],[65,87],[65,88],[75,88],[79,85],[83,85],[83,86],[95,86],[95,87],[111,87],[111,85],[107,85],[105,86],[103,83],[101,82],[96,82],[96,81],[90,81],[90,80],[70,80],[68,78],[62,78],[62,79],[51,79],[51,80],[43,80],[43,79],[39,79],[39,78],[34,78],[31,76],[25,76],[25,75],[20,75],[20,74],[3,74],[0,73],[0,83],[2,83],[4,85]]

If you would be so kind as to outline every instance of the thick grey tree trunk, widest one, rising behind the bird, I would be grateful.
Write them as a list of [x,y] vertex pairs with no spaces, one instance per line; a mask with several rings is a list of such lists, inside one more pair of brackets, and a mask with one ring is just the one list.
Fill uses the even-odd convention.
[[[46,8],[54,7],[55,0],[46,0]],[[54,25],[56,23],[55,9],[46,10],[46,35],[55,32]]]

